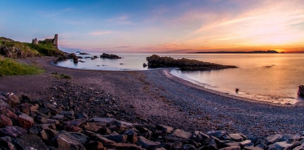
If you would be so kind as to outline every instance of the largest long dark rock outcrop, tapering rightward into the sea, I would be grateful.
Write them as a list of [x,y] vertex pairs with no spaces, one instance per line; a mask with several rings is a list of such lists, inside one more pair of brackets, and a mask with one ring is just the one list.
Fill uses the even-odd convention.
[[236,66],[220,65],[210,62],[202,62],[194,59],[174,59],[171,57],[160,57],[152,55],[147,57],[149,67],[179,67],[185,70],[213,70],[213,69],[228,69],[237,68]]

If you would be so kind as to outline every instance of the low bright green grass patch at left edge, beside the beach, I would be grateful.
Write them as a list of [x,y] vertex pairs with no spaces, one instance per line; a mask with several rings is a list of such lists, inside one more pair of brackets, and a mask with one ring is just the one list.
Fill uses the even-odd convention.
[[14,75],[34,75],[44,73],[35,65],[27,65],[10,58],[0,58],[0,77]]

